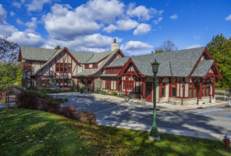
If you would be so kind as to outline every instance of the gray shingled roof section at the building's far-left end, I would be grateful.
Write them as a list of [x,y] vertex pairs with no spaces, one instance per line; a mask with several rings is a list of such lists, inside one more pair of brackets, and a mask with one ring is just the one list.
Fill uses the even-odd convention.
[[47,61],[55,52],[55,49],[35,48],[20,46],[22,59]]

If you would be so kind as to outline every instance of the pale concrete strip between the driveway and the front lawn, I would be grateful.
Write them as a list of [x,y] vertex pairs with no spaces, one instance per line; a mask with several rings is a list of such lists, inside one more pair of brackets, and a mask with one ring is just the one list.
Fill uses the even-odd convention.
[[[152,126],[146,126],[144,124],[136,124],[136,123],[123,123],[116,121],[106,121],[106,120],[98,120],[98,125],[109,126],[109,127],[117,127],[117,128],[125,128],[125,129],[133,129],[133,130],[141,130],[141,131],[151,131]],[[179,130],[173,128],[165,128],[158,127],[159,133],[180,135],[180,136],[188,136],[195,138],[203,138],[210,140],[219,140],[222,141],[225,134],[216,134],[216,133],[206,133],[206,132],[198,132],[198,131],[190,131],[190,130]]]

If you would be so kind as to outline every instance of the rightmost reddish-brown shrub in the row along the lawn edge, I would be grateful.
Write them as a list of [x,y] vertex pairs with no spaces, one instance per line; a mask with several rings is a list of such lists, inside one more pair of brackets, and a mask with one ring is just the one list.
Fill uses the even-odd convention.
[[81,111],[78,117],[79,122],[89,125],[97,125],[96,115],[92,112]]

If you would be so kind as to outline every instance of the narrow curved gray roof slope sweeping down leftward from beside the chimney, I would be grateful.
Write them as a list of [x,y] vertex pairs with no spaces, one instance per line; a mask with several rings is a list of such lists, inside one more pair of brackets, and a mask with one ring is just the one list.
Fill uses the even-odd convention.
[[111,54],[105,60],[102,61],[102,63],[98,66],[98,68],[85,69],[84,71],[82,71],[76,75],[72,75],[72,77],[85,77],[85,76],[88,76],[88,75],[91,75],[91,74],[98,72],[105,65],[105,63],[111,59],[111,57],[117,52],[117,50],[118,49],[112,51]]

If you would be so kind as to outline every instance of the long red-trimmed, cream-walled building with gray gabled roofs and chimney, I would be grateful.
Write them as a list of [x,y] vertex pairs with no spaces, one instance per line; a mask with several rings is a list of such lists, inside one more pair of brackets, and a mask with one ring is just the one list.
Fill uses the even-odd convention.
[[143,104],[154,100],[150,63],[155,59],[160,63],[157,102],[215,103],[215,79],[222,76],[206,47],[125,57],[114,42],[110,51],[100,53],[25,46],[19,53],[19,61],[34,69],[23,73],[24,87],[84,87],[92,92],[98,87],[141,98]]

